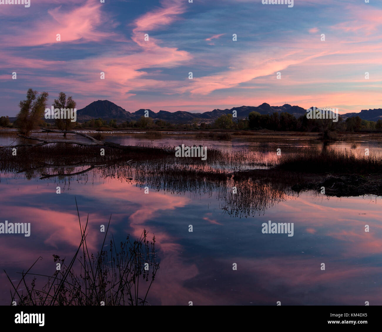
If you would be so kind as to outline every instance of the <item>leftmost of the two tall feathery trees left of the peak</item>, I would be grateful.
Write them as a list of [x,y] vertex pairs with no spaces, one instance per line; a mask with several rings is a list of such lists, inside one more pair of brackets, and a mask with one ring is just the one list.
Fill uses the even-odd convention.
[[47,100],[48,92],[41,92],[37,97],[37,91],[28,89],[26,99],[19,103],[20,112],[16,119],[21,134],[28,135],[42,123]]

